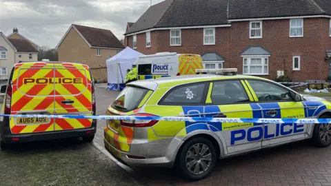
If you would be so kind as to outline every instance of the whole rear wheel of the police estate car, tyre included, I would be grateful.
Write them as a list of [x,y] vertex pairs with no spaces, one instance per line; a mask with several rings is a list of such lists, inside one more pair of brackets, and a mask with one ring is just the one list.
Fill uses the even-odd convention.
[[177,168],[184,178],[200,180],[208,176],[217,162],[217,152],[210,140],[192,138],[179,152]]

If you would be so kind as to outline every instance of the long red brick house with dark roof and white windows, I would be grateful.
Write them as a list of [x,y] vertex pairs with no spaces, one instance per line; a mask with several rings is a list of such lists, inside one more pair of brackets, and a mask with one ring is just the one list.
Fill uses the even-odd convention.
[[331,1],[325,0],[165,0],[126,31],[125,45],[143,54],[201,54],[205,68],[325,80],[331,76],[330,20]]

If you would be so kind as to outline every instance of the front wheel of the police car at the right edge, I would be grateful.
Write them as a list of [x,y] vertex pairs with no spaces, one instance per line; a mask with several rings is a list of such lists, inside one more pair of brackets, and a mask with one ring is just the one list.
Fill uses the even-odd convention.
[[[325,114],[320,118],[330,118],[330,116]],[[331,144],[331,123],[316,123],[312,140],[318,147],[328,147]]]

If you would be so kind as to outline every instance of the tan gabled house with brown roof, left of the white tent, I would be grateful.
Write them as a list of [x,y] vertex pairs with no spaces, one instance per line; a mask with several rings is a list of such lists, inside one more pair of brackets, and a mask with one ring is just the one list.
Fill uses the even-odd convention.
[[95,79],[107,79],[106,60],[118,54],[124,46],[110,30],[83,25],[70,25],[57,45],[59,61],[90,66]]

